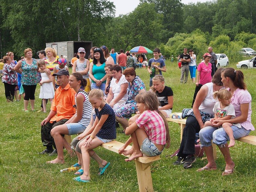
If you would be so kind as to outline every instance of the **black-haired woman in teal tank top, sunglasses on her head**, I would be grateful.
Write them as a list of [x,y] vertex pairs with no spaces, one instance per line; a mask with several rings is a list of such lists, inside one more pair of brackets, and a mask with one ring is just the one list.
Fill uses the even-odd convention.
[[93,61],[89,69],[89,77],[92,79],[92,89],[100,89],[105,92],[107,74],[104,68],[106,64],[109,64],[109,62],[105,59],[102,50],[95,48],[93,50]]

